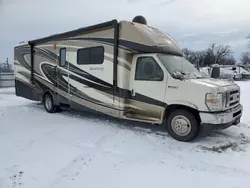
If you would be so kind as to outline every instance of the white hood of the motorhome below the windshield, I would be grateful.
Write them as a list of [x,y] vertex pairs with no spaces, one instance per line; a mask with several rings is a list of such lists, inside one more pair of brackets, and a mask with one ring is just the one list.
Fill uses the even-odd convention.
[[213,78],[190,79],[190,82],[201,84],[207,87],[225,87],[225,86],[235,85],[233,82],[230,81],[213,79]]

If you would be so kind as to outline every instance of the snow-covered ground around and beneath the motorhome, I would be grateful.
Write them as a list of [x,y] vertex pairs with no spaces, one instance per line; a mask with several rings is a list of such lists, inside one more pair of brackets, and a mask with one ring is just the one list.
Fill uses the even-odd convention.
[[0,89],[0,188],[249,188],[250,82],[237,83],[241,124],[193,143],[152,125],[48,114],[14,89]]

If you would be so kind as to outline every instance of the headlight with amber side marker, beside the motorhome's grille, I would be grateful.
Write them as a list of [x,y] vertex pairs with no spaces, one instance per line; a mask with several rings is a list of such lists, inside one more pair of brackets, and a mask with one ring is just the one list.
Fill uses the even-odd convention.
[[226,108],[226,93],[207,93],[205,103],[210,111],[222,111]]

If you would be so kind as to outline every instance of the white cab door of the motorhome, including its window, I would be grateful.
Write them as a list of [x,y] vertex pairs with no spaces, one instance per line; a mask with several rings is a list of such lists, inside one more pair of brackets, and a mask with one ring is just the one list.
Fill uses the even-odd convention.
[[130,80],[134,118],[160,121],[164,111],[167,78],[153,56],[139,56],[133,62]]

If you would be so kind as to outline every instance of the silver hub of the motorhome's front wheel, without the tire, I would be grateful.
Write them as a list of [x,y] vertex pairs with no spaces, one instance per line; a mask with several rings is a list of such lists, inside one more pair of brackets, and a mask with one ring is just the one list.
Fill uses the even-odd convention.
[[172,119],[171,127],[173,131],[179,136],[186,136],[191,131],[190,121],[182,115],[175,116]]

